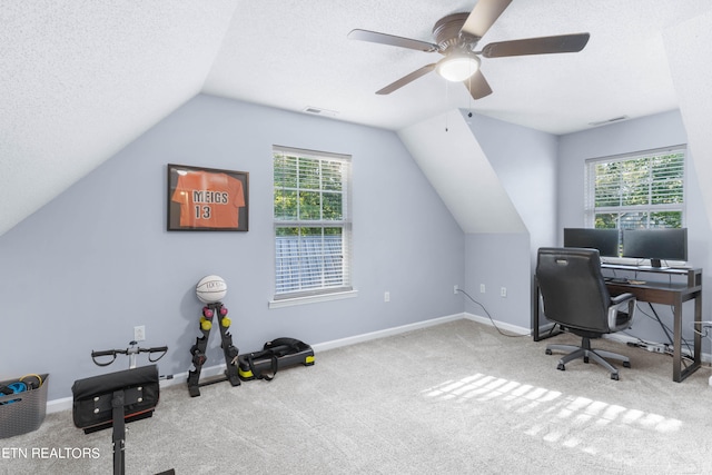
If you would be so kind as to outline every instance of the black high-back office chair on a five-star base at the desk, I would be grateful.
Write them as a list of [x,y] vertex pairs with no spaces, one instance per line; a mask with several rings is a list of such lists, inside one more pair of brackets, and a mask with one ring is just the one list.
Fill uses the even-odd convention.
[[619,370],[604,358],[615,359],[631,367],[627,357],[591,348],[591,339],[629,328],[635,313],[635,297],[622,294],[611,297],[601,275],[601,258],[596,249],[541,248],[536,261],[536,280],[544,304],[544,315],[562,329],[578,335],[581,346],[547,345],[553,350],[571,352],[558,362],[557,369],[583,357],[605,367],[611,379],[619,379]]

